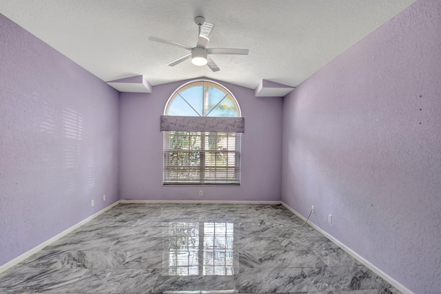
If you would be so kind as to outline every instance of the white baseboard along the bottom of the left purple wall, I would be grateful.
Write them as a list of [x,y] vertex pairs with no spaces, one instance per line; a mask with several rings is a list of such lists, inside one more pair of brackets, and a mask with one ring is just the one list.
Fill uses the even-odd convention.
[[86,219],[83,219],[81,222],[74,224],[70,228],[66,228],[63,232],[61,232],[61,233],[59,233],[57,235],[54,235],[54,237],[52,237],[52,238],[46,240],[45,242],[35,246],[34,248],[30,249],[29,251],[26,251],[22,255],[19,255],[18,257],[15,257],[10,262],[6,262],[6,264],[3,264],[2,266],[0,266],[0,273],[3,273],[4,271],[8,270],[9,268],[12,268],[12,266],[17,265],[20,262],[23,262],[23,260],[28,258],[28,257],[30,257],[30,255],[32,255],[34,253],[37,253],[38,251],[41,251],[41,249],[45,248],[45,246],[48,246],[49,244],[57,241],[58,239],[60,239],[61,237],[64,237],[65,235],[68,235],[68,233],[74,231],[76,228],[79,228],[83,224],[89,222],[90,220],[94,219],[95,217],[101,215],[102,213],[105,213],[107,210],[110,210],[110,208],[113,208],[114,206],[116,206],[118,204],[119,204],[119,201],[117,201],[117,202],[115,202],[113,204],[110,204],[106,208],[103,208],[102,210],[99,210],[99,212],[94,213],[93,215],[90,215],[90,217],[88,217]]

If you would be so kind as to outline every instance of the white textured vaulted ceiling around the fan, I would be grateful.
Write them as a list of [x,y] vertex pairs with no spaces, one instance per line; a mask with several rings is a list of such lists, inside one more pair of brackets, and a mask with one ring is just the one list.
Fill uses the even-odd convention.
[[[414,1],[0,0],[0,13],[103,81],[209,77],[256,88],[262,79],[298,86]],[[216,24],[208,48],[249,55],[213,55],[218,72],[189,60],[166,66],[188,51],[148,37],[196,46],[198,15]]]

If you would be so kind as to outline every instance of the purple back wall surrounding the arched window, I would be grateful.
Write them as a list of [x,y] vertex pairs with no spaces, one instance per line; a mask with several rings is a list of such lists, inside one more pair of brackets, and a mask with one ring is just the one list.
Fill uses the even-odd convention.
[[[281,196],[282,98],[254,97],[254,90],[221,82],[245,117],[240,187],[163,186],[160,115],[185,81],[154,86],[151,94],[122,93],[120,99],[120,198],[137,200],[256,200]],[[265,138],[265,139],[264,139]],[[203,197],[198,191],[203,190]]]

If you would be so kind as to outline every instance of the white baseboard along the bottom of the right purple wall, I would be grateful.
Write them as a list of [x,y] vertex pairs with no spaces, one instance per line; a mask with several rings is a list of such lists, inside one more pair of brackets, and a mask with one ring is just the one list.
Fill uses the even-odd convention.
[[[297,215],[298,217],[300,217],[300,219],[303,219],[303,221],[306,220],[306,217],[304,217],[303,215],[300,215],[300,213],[298,213],[296,210],[294,210],[293,208],[289,207],[285,202],[281,202],[281,204],[283,206],[285,206],[289,211],[291,211],[291,213],[294,213],[295,215]],[[366,266],[367,268],[369,268],[371,271],[373,271],[373,273],[376,273],[378,276],[382,277],[382,279],[384,279],[386,282],[388,282],[389,284],[391,284],[393,287],[395,287],[398,291],[402,292],[403,294],[414,294],[412,291],[410,291],[408,288],[406,288],[405,286],[403,286],[402,284],[400,284],[400,282],[398,282],[397,280],[393,279],[393,277],[391,277],[390,275],[388,275],[387,273],[384,273],[384,271],[382,271],[380,268],[378,268],[377,266],[373,265],[371,262],[369,262],[369,260],[365,259],[364,257],[362,257],[361,255],[358,255],[358,253],[356,253],[355,251],[353,251],[351,248],[347,247],[345,244],[343,244],[342,242],[338,241],[338,239],[336,239],[335,237],[329,235],[329,233],[323,231],[319,226],[316,226],[316,224],[314,224],[313,222],[311,222],[310,220],[308,220],[308,224],[309,226],[313,227],[316,231],[318,231],[319,233],[321,233],[322,235],[324,235],[325,237],[327,237],[331,242],[333,242],[334,244],[336,244],[338,247],[342,248],[343,251],[345,251],[346,253],[348,253],[349,255],[351,255],[353,258],[357,259],[362,265]]]

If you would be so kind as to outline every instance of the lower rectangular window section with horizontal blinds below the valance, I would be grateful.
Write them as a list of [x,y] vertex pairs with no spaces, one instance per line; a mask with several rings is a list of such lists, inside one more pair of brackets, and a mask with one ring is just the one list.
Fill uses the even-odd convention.
[[240,135],[164,132],[164,184],[238,186]]

